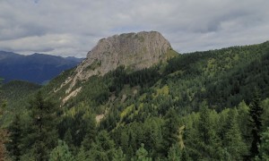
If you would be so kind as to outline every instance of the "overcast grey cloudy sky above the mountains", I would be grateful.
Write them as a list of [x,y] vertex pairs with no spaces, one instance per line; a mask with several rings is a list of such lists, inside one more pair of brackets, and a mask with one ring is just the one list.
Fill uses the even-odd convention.
[[268,0],[0,0],[0,50],[85,57],[100,38],[156,30],[179,53],[269,40]]

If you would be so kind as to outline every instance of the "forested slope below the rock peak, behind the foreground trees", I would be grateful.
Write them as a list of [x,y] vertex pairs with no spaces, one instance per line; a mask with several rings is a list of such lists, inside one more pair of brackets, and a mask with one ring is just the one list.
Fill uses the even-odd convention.
[[269,97],[268,54],[269,43],[265,42],[178,55],[169,59],[168,64],[133,72],[119,66],[103,76],[79,81],[68,93],[68,80],[78,74],[77,68],[64,72],[44,90],[62,106],[88,105],[98,114],[114,105],[134,106],[134,100],[138,105],[159,106],[157,111],[166,111],[169,106],[180,106],[180,113],[196,111],[203,101],[221,111],[239,105],[242,100],[248,104],[254,87],[261,90],[263,98]]

